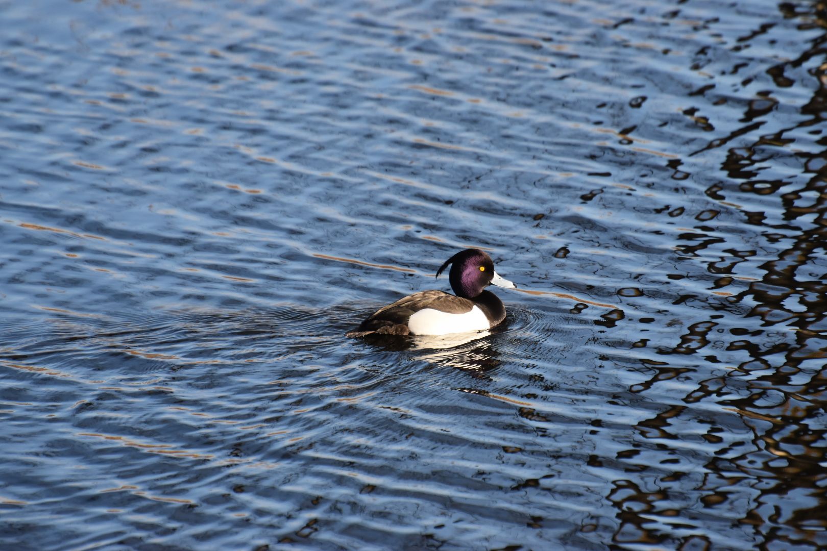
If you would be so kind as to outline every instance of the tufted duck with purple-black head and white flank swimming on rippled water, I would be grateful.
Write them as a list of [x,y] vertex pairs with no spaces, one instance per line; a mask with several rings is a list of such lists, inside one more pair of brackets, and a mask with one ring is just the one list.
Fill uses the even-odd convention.
[[348,337],[365,335],[448,335],[487,330],[505,319],[505,306],[485,287],[517,286],[501,278],[494,261],[481,249],[465,249],[447,259],[437,278],[451,265],[448,281],[454,294],[430,290],[400,298],[361,322]]

